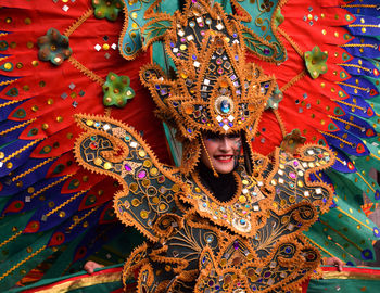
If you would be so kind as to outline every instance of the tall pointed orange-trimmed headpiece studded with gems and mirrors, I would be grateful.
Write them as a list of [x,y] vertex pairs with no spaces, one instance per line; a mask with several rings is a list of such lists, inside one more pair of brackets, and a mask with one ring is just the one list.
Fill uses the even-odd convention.
[[205,131],[243,131],[249,142],[268,99],[277,94],[275,78],[245,62],[242,28],[218,3],[188,1],[183,14],[161,14],[142,29],[147,46],[164,38],[177,78],[148,65],[141,80],[163,119],[191,143]]

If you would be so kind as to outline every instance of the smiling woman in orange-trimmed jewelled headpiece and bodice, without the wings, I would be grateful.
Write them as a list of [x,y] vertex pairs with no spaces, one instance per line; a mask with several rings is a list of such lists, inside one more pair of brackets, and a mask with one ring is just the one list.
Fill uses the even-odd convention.
[[278,94],[275,79],[245,62],[239,22],[204,1],[164,17],[178,78],[157,65],[140,78],[177,129],[181,166],[161,164],[122,123],[77,116],[87,131],[75,149],[79,164],[121,182],[117,217],[147,238],[123,280],[137,276],[143,292],[292,291],[320,264],[302,232],[328,209],[332,190],[308,175],[331,166],[333,154],[319,145],[255,153],[259,116]]

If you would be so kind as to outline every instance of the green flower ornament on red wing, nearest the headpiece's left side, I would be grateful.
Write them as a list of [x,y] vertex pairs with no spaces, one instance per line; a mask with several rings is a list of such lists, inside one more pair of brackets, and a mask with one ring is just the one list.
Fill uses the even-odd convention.
[[135,91],[129,87],[128,76],[118,76],[114,73],[109,73],[106,81],[103,85],[103,104],[105,106],[115,105],[124,107],[127,100],[135,97]]

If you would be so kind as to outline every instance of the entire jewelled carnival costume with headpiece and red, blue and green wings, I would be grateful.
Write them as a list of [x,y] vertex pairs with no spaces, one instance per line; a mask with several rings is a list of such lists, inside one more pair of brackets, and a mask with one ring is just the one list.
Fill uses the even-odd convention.
[[[125,283],[137,278],[137,292],[293,292],[318,275],[318,249],[346,263],[372,258],[379,230],[360,205],[362,189],[380,198],[368,177],[379,166],[379,40],[367,36],[379,31],[379,4],[192,0],[169,13],[175,4],[165,1],[93,0],[80,14],[87,1],[63,2],[65,12],[73,5],[73,25],[62,35],[47,29],[37,44],[26,40],[39,61],[16,41],[28,29],[14,24],[34,24],[33,1],[0,2],[17,8],[2,13],[2,288],[39,264],[52,264],[51,277],[83,263],[103,243],[99,233],[118,233],[112,208],[148,239],[123,272]],[[127,102],[128,77],[111,72],[103,79],[106,66],[123,72],[117,56],[106,52],[91,67],[78,60],[87,54],[81,41],[91,39],[80,27],[115,21],[122,9],[121,52],[138,64],[128,75],[139,74],[157,116],[176,129],[179,167],[161,163],[145,142],[160,140],[157,125],[145,122],[142,138],[134,119],[143,114],[104,112],[88,94],[101,85],[104,106],[125,109],[138,98]],[[104,27],[104,41],[117,35],[112,28]],[[164,47],[163,66],[138,63],[152,46],[153,59]],[[53,104],[76,115],[60,115]],[[128,118],[137,124],[127,126]],[[199,177],[206,132],[242,137],[228,202]]]

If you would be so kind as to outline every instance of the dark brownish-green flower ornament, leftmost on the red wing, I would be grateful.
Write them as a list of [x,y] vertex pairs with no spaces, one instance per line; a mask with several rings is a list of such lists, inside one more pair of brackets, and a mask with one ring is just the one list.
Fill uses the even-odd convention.
[[39,60],[50,61],[54,65],[61,65],[73,53],[68,47],[68,38],[55,28],[50,28],[45,36],[39,37],[37,43]]

